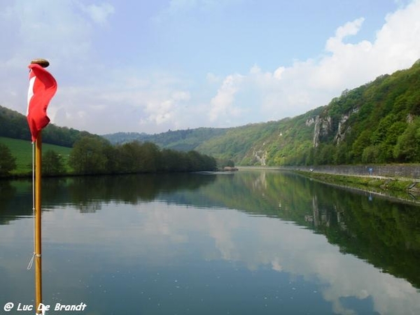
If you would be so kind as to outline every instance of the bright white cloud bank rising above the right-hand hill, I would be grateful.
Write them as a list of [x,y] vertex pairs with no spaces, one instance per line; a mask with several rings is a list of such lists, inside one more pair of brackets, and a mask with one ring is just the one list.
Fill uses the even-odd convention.
[[[279,66],[272,73],[254,65],[246,76],[241,76],[241,85],[233,85],[232,76],[227,76],[211,100],[210,117],[221,119],[232,104],[237,104],[236,113],[247,113],[235,102],[239,94],[243,99],[248,95],[255,100],[258,106],[253,109],[253,118],[259,121],[297,116],[328,104],[342,90],[409,68],[420,58],[419,16],[420,1],[416,0],[387,15],[374,41],[344,42],[363,27],[364,18],[358,18],[338,27],[335,36],[326,41],[325,53],[316,58]],[[249,122],[245,116],[240,119],[243,124]]]

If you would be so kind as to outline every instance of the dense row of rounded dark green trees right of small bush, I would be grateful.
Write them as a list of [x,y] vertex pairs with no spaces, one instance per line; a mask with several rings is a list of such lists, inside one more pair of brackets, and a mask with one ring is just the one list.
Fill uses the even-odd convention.
[[196,151],[162,149],[151,142],[113,146],[101,137],[81,137],[73,146],[69,165],[76,174],[130,174],[214,171],[216,160]]

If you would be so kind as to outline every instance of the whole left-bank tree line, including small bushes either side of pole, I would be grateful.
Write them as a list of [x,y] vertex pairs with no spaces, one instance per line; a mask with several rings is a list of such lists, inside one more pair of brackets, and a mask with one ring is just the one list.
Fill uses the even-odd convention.
[[[16,168],[15,160],[8,147],[0,144],[0,176],[10,175]],[[42,164],[43,175],[48,176],[203,172],[217,168],[216,159],[197,151],[160,149],[151,142],[139,141],[112,145],[94,135],[80,137],[69,157],[52,150],[43,152]]]

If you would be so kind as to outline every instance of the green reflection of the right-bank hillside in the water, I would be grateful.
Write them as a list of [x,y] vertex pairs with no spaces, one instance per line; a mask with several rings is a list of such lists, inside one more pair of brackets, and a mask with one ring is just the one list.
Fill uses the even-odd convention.
[[[332,188],[295,174],[248,172],[210,194],[226,207],[277,216],[322,233],[343,253],[367,260],[420,288],[420,211],[364,193]],[[218,181],[218,183],[221,181]],[[256,184],[259,183],[259,184]],[[235,188],[237,186],[237,188]],[[223,191],[225,190],[225,191]]]

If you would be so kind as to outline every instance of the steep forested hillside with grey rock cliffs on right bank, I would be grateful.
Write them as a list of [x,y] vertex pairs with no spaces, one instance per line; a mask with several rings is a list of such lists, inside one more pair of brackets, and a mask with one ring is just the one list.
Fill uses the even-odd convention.
[[258,160],[268,165],[420,162],[420,62],[280,122],[241,161]]

